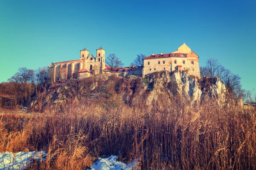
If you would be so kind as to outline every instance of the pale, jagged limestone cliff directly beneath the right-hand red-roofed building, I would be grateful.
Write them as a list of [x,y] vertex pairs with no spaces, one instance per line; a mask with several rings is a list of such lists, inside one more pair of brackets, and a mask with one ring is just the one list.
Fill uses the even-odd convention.
[[180,95],[192,102],[200,102],[203,99],[216,99],[221,104],[225,100],[226,87],[218,77],[201,78],[188,76],[186,73],[170,73],[162,71],[148,74],[144,78],[148,82],[149,95],[146,104],[151,105],[157,100],[159,94],[165,92],[171,98]]

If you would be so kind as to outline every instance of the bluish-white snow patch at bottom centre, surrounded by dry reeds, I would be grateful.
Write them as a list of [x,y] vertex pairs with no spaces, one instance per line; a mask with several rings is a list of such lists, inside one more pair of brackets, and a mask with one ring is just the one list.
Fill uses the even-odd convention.
[[135,160],[129,164],[116,161],[118,156],[109,156],[108,158],[99,158],[90,169],[87,170],[134,170],[138,164],[138,160]]

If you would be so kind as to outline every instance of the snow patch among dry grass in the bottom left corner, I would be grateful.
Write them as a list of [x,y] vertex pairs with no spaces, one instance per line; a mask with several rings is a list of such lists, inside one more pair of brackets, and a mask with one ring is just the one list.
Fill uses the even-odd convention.
[[35,159],[45,161],[46,156],[45,151],[0,153],[0,170],[23,170]]

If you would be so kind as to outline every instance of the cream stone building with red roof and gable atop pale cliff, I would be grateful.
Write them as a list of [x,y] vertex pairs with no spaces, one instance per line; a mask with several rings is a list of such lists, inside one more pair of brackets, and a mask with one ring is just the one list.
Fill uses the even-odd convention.
[[188,75],[200,78],[198,55],[185,42],[177,51],[169,54],[154,54],[143,58],[143,76],[157,71],[184,71]]

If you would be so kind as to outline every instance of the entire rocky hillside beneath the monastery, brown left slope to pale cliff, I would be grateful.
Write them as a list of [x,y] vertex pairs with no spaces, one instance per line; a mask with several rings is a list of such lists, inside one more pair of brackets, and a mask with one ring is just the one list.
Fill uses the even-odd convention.
[[[202,100],[214,99],[218,104],[225,102],[226,87],[218,77],[205,78],[188,76],[182,73],[161,71],[140,76],[113,78],[104,81],[95,93],[93,82],[68,81],[52,87],[44,99],[44,106],[50,108],[65,108],[68,101],[91,101],[93,98],[105,96],[115,102],[124,102],[128,105],[143,105],[154,107],[157,103],[171,102],[176,96],[184,101],[197,103]],[[94,86],[93,86],[94,87]],[[117,101],[118,100],[118,101]],[[112,102],[113,102],[112,101]]]

